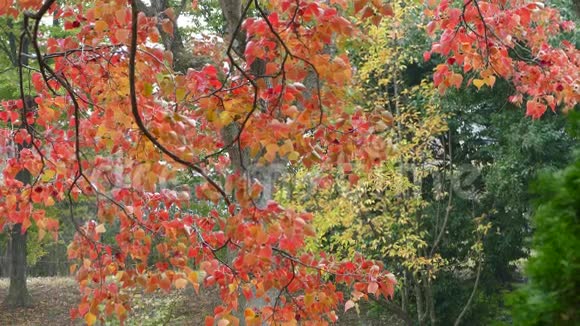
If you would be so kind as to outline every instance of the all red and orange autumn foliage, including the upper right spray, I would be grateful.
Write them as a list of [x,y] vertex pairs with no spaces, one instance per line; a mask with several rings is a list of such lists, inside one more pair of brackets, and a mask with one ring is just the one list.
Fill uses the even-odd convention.
[[[312,214],[272,200],[277,175],[288,166],[371,169],[385,160],[389,147],[378,135],[385,117],[354,105],[344,45],[364,35],[350,15],[379,24],[392,6],[224,0],[217,14],[225,35],[207,39],[188,38],[179,26],[188,6],[1,2],[0,15],[21,22],[19,54],[34,60],[19,67],[34,72],[34,89],[21,89],[1,115],[0,143],[22,150],[2,158],[0,226],[26,230],[34,223],[40,237],[55,234],[59,221],[45,207],[68,204],[68,222],[78,231],[68,255],[82,295],[72,316],[88,324],[124,319],[125,288],[135,286],[217,286],[223,304],[207,323],[219,325],[319,324],[335,321],[341,302],[392,297],[395,277],[382,263],[304,250],[314,235]],[[544,44],[542,36],[560,22],[552,10],[526,16],[538,6],[474,0],[462,11],[446,1],[430,3],[427,14],[436,19],[429,30],[442,31],[431,52],[451,56],[438,66],[435,84],[459,88],[457,63],[464,73],[479,74],[475,86],[491,87],[500,77],[512,82],[514,102],[532,97],[531,115],[546,105],[574,106],[578,92],[569,76],[578,74],[577,51]],[[514,27],[513,13],[524,17],[526,33]],[[48,15],[61,21],[60,33],[42,33]],[[511,59],[514,44],[531,56]],[[550,73],[539,68],[542,62]],[[23,73],[19,79],[23,85]],[[537,94],[539,81],[551,87],[548,93]],[[17,178],[24,171],[30,184]],[[184,174],[202,181],[180,184]],[[85,223],[72,207],[87,197],[97,219]],[[199,202],[212,209],[195,212]]]

